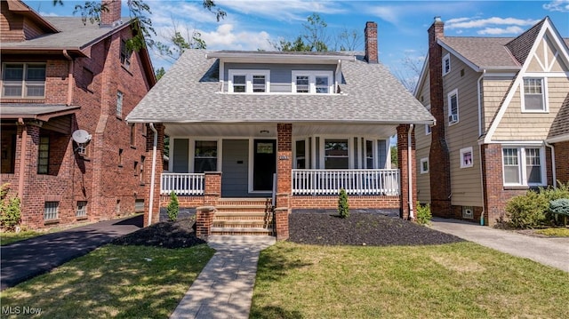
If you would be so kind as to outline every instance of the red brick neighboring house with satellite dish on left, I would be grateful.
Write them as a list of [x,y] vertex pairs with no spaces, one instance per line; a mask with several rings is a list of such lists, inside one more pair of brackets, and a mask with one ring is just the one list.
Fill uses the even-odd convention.
[[[128,52],[130,20],[105,1],[101,25],[1,2],[2,183],[21,225],[113,219],[143,209],[146,127],[124,116],[156,83],[148,52]],[[73,132],[91,135],[76,143]]]

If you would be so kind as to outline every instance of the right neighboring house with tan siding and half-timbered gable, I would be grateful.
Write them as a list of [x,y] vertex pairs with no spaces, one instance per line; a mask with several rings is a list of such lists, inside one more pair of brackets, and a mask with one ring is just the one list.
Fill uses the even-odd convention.
[[527,189],[569,181],[569,50],[545,18],[522,35],[429,28],[415,97],[437,119],[417,131],[418,196],[437,216],[504,219]]

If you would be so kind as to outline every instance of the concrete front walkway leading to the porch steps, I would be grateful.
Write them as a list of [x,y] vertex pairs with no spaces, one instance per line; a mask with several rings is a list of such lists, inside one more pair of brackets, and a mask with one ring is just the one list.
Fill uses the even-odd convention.
[[259,253],[273,243],[269,236],[210,236],[217,252],[170,318],[248,318]]

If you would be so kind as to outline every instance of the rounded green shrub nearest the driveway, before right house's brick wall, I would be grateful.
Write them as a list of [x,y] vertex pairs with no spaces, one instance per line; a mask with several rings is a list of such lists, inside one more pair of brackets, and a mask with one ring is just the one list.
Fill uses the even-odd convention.
[[506,204],[509,223],[517,228],[541,227],[547,221],[546,212],[549,202],[543,193],[528,191],[525,195],[518,195]]

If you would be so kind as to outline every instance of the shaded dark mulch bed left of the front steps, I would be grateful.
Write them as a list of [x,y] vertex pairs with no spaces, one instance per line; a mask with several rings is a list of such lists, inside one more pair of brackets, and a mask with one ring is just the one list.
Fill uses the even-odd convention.
[[196,237],[195,216],[172,221],[161,221],[141,228],[129,235],[116,238],[117,245],[143,245],[163,248],[185,248],[205,243]]

